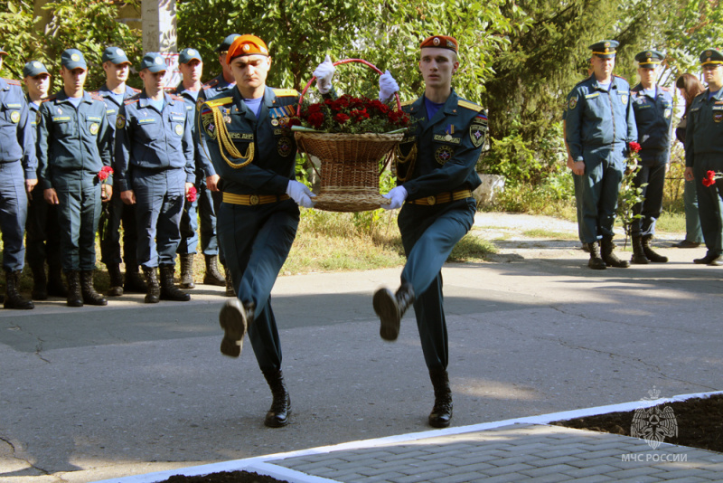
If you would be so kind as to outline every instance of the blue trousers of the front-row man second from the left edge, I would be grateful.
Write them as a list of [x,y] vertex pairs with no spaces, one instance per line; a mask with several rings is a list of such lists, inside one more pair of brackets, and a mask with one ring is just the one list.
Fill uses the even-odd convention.
[[100,182],[93,173],[58,170],[52,174],[58,194],[62,270],[95,270],[100,219]]

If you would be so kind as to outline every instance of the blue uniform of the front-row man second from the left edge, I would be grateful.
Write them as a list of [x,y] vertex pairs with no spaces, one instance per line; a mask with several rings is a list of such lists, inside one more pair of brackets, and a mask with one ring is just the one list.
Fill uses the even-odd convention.
[[[95,236],[101,211],[98,174],[103,166],[110,166],[110,142],[103,99],[84,91],[76,108],[61,90],[42,102],[39,184],[58,194],[63,270],[96,268]],[[112,182],[109,176],[107,183]]]

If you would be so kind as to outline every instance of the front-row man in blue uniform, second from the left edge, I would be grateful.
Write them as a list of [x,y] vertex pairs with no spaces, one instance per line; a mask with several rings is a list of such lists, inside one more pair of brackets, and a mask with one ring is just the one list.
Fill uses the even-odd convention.
[[99,179],[110,166],[110,131],[106,104],[83,90],[88,67],[83,54],[61,55],[63,89],[43,101],[38,127],[40,184],[45,201],[57,204],[61,260],[68,281],[68,305],[108,305],[93,288],[96,232],[101,198],[113,194],[112,176]]

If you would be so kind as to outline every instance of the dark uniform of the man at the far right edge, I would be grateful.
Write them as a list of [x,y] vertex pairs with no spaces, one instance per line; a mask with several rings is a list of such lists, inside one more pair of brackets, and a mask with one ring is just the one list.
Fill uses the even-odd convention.
[[698,210],[708,255],[723,254],[723,179],[704,186],[708,171],[723,172],[723,89],[709,99],[710,89],[693,99],[685,130],[685,166],[693,168]]

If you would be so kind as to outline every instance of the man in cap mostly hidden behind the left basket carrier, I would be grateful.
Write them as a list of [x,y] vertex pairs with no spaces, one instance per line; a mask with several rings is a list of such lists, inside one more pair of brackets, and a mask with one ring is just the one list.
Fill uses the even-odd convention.
[[[230,95],[230,90],[236,87],[236,80],[233,77],[233,72],[231,72],[229,62],[226,61],[226,58],[228,57],[228,52],[231,44],[239,36],[240,35],[238,33],[231,33],[230,35],[227,35],[226,38],[223,39],[221,44],[216,48],[216,52],[219,52],[221,73],[203,84],[202,91],[199,94],[199,99],[213,99],[221,95],[228,96]],[[201,156],[203,156],[202,147],[199,148],[199,153],[201,154]],[[202,164],[204,166],[207,166],[207,171],[205,173],[206,189],[211,191],[211,198],[213,200],[213,213],[219,213],[219,210],[221,208],[221,186],[218,185],[218,183],[220,182],[220,177],[213,168],[213,164],[210,162],[210,160],[203,161]],[[219,242],[219,261],[221,262],[221,265],[223,265],[225,275],[224,278],[226,281],[226,296],[236,297],[236,292],[233,289],[233,282],[231,281],[231,272],[230,270],[228,270],[228,267],[226,267],[226,259],[223,256],[223,247],[221,246],[221,242]]]

